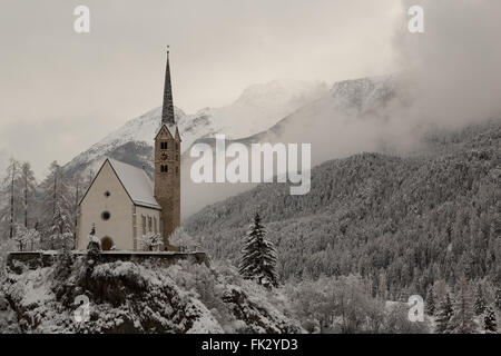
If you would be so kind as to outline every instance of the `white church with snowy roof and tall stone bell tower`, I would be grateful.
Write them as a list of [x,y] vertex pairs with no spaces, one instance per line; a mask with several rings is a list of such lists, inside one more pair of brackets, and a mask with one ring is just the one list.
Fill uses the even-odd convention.
[[180,135],[174,117],[169,52],[161,120],[154,137],[154,181],[148,174],[118,160],[106,159],[79,202],[77,249],[86,249],[96,226],[102,250],[141,250],[138,241],[160,234],[166,250],[180,226]]

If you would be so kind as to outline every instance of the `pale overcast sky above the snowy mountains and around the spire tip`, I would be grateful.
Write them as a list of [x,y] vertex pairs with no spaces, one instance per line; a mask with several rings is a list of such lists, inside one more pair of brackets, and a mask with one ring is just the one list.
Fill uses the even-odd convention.
[[[78,4],[89,34],[73,31]],[[399,13],[395,0],[2,0],[0,159],[29,159],[40,175],[159,106],[167,43],[187,112],[277,78],[395,71]]]

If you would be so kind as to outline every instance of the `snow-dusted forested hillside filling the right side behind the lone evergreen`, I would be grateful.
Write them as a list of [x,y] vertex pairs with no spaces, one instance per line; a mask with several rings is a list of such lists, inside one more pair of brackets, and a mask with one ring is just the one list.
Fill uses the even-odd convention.
[[313,169],[306,196],[261,185],[206,207],[186,229],[213,258],[235,263],[259,211],[283,279],[360,273],[395,299],[463,275],[501,283],[501,120],[424,144],[412,157],[328,161]]

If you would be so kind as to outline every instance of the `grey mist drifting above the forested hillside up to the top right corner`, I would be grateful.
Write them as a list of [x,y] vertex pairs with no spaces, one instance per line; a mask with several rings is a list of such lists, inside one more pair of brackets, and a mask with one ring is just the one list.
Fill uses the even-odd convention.
[[[424,9],[424,33],[407,30],[406,9],[413,4]],[[402,1],[393,37],[400,70],[363,80],[360,88],[356,81],[347,85],[352,90],[375,86],[367,91],[363,109],[356,108],[360,98],[355,108],[340,103],[333,88],[324,98],[247,141],[312,144],[315,166],[364,151],[406,155],[423,148],[423,134],[458,130],[500,117],[499,13],[501,2],[487,0]],[[190,188],[184,209],[187,215],[250,186]]]

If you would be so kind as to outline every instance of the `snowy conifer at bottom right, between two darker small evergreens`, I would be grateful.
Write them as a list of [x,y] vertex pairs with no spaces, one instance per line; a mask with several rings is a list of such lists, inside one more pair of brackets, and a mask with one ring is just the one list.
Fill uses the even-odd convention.
[[462,278],[454,304],[454,314],[449,323],[449,330],[453,334],[475,333],[473,297],[469,283]]

